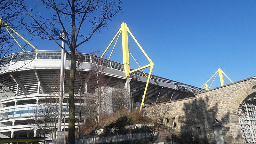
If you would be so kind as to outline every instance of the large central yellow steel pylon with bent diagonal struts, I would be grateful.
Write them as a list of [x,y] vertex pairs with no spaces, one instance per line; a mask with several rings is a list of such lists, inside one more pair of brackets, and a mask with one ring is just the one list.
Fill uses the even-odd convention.
[[[142,69],[145,68],[149,68],[149,73],[148,76],[146,76],[147,78],[147,83],[146,83],[146,87],[144,90],[144,94],[142,97],[142,101],[141,101],[141,105],[140,105],[140,111],[142,110],[143,107],[143,103],[145,100],[145,96],[147,93],[147,89],[148,89],[148,84],[149,84],[149,80],[150,80],[150,76],[154,67],[154,63],[153,61],[148,57],[147,53],[143,50],[143,48],[140,46],[139,42],[136,40],[136,38],[132,35],[132,32],[129,30],[129,28],[127,27],[126,23],[122,23],[121,28],[118,30],[118,32],[116,33],[116,35],[114,36],[114,38],[112,39],[112,41],[110,42],[110,44],[108,45],[108,47],[106,48],[106,50],[103,52],[103,54],[101,55],[101,57],[103,57],[106,52],[108,51],[108,48],[111,46],[111,44],[114,42],[114,40],[116,39],[116,36],[118,34],[122,33],[122,49],[123,49],[123,64],[124,64],[124,71],[126,73],[126,77],[129,78],[130,74],[136,71],[140,71]],[[139,46],[140,50],[142,51],[142,53],[146,56],[146,58],[148,59],[149,64],[140,67],[140,65],[137,63],[137,61],[134,59],[134,57],[132,56],[132,54],[129,52],[129,47],[128,47],[128,33],[132,36],[132,39],[135,41],[135,43]],[[118,36],[119,37],[119,36]],[[116,40],[117,41],[117,40]],[[116,43],[115,43],[116,45]],[[114,48],[115,48],[114,45]],[[113,48],[113,49],[114,49]],[[113,50],[112,50],[113,52]],[[111,54],[112,54],[111,52]],[[129,53],[131,54],[132,58],[135,60],[136,64],[139,66],[139,68],[136,68],[134,70],[130,70],[130,61],[129,61]],[[143,72],[144,73],[144,72]],[[145,73],[144,73],[145,74]],[[145,74],[146,75],[146,74]]]

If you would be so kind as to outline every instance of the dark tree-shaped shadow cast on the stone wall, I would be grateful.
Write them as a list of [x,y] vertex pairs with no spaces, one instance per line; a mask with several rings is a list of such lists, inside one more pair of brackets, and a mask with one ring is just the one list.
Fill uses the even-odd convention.
[[[173,134],[174,143],[215,143],[214,132],[210,127],[213,118],[216,117],[218,103],[215,102],[210,104],[210,107],[208,106],[208,96],[183,103],[182,111],[185,115],[178,117],[180,133],[179,135]],[[201,135],[197,132],[198,127],[200,127]]]

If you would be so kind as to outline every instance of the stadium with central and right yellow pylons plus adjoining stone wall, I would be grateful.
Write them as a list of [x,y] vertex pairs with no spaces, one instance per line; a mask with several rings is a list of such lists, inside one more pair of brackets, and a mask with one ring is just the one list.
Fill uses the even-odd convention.
[[[121,33],[123,63],[109,60],[116,43],[109,59],[102,58]],[[140,67],[130,53],[128,33],[148,59],[148,65]],[[64,47],[64,41],[62,43]],[[46,136],[50,138],[47,140],[53,140],[54,137],[56,138],[53,133],[58,133],[58,139],[58,135],[61,136],[63,132],[68,131],[69,56],[63,49],[35,50],[12,53],[1,58],[0,134],[2,138],[42,138],[44,136],[42,129],[48,129]],[[130,69],[130,56],[139,68]],[[161,124],[173,128],[173,131],[180,132],[183,136],[189,136],[188,139],[193,138],[193,141],[196,137],[221,144],[256,142],[255,76],[233,82],[221,69],[218,69],[211,78],[215,76],[215,79],[219,74],[221,86],[209,89],[212,84],[208,88],[206,83],[210,78],[203,85],[205,89],[202,89],[151,75],[154,63],[125,23],[122,23],[100,57],[77,52],[76,64],[74,86],[76,128],[86,119],[88,109],[95,108],[95,103],[100,103],[100,106],[96,107],[103,109],[107,114],[112,114],[121,107],[126,107],[130,111],[158,107],[166,111],[164,117],[157,119]],[[149,67],[149,73],[144,73],[143,69]],[[224,84],[223,75],[231,81],[231,84]],[[101,95],[108,95],[106,100],[98,102],[99,92]],[[118,97],[120,95],[121,101]],[[53,108],[51,111],[55,113],[55,118],[52,118],[52,112],[48,113],[50,118],[47,123],[42,115],[37,115],[46,112],[46,107],[43,108],[45,104],[50,105]],[[81,109],[87,109],[83,111],[83,116]],[[149,111],[146,115],[154,114]]]

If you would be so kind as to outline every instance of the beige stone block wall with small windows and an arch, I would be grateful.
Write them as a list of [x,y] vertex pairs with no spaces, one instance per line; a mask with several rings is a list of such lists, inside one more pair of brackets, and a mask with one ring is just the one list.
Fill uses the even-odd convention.
[[[170,105],[171,108],[165,118],[169,118],[171,125],[172,117],[175,117],[176,131],[191,132],[192,129],[194,135],[198,136],[197,127],[200,127],[201,137],[206,136],[215,143],[213,126],[221,125],[225,143],[243,143],[238,121],[239,108],[247,97],[256,94],[255,87],[256,80],[248,78],[196,93],[194,98],[161,103],[156,106],[160,105],[164,108],[164,105]],[[147,115],[150,115],[150,111],[147,112]],[[164,123],[166,123],[165,118]],[[214,123],[215,119],[220,123]]]

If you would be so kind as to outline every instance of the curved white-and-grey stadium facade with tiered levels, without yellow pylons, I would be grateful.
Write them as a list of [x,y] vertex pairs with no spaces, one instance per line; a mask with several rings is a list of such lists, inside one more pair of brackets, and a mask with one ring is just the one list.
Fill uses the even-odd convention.
[[[4,60],[0,64],[3,66],[0,69],[0,134],[2,138],[42,136],[39,135],[38,129],[40,128],[33,124],[31,116],[35,113],[40,101],[49,98],[49,95],[54,96],[54,94],[59,93],[59,84],[53,84],[53,82],[60,80],[60,59],[60,51],[21,52],[2,58]],[[81,54],[83,63],[81,70],[86,74],[82,78],[85,92],[93,93],[96,88],[95,85],[90,85],[91,81],[94,80],[94,77],[90,75],[93,59],[104,61],[102,64],[104,67],[103,73],[108,87],[115,87],[119,81],[126,82],[123,64],[101,59],[90,54]],[[70,61],[65,54],[63,111],[67,108],[69,65]],[[130,101],[132,100],[137,105],[140,105],[146,81],[147,78],[142,72],[131,74],[127,89],[129,90]],[[75,93],[78,94],[79,91],[80,82],[76,81]],[[194,97],[194,93],[202,91],[204,89],[151,75],[144,104]],[[77,97],[75,101],[76,106],[78,106]],[[129,107],[131,107],[131,103]],[[109,109],[109,113],[112,112],[113,109]],[[77,121],[75,124],[77,127]],[[61,130],[63,131],[64,123],[62,122],[61,125]],[[65,125],[68,128],[68,123]]]

